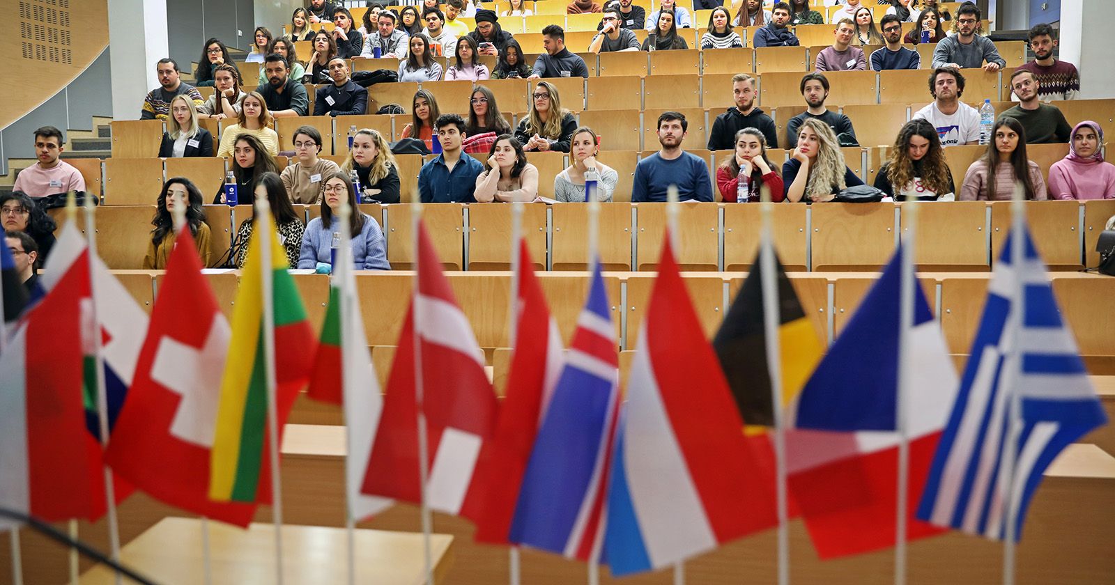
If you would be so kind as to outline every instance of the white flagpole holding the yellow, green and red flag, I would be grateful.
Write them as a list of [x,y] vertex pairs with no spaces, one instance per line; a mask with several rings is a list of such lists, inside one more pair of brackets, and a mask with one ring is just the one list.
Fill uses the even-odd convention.
[[260,281],[263,292],[263,363],[268,394],[268,447],[271,458],[271,514],[275,529],[275,583],[282,585],[282,479],[279,474],[279,412],[275,407],[275,323],[271,267],[271,204],[255,198],[255,237],[260,242]]

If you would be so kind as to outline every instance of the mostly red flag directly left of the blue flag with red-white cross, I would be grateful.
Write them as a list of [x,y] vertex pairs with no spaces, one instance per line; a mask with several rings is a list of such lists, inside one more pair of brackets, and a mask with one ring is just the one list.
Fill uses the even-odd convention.
[[483,505],[475,538],[482,543],[508,542],[523,472],[562,368],[561,333],[534,275],[525,240],[518,243],[516,299],[515,351],[495,423],[492,457],[476,470]]

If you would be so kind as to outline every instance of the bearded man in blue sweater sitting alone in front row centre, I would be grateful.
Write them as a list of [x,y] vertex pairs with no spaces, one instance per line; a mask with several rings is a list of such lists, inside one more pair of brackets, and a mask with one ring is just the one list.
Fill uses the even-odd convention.
[[712,201],[712,181],[705,160],[681,149],[688,129],[689,123],[680,113],[663,111],[658,117],[658,144],[662,148],[636,165],[633,203],[665,202],[670,185],[678,187],[679,201]]

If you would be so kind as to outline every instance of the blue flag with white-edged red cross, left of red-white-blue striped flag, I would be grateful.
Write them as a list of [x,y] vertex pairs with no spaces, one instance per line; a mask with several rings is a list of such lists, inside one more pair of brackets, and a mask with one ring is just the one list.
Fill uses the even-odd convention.
[[511,540],[589,560],[600,552],[619,407],[619,353],[600,264],[531,452]]

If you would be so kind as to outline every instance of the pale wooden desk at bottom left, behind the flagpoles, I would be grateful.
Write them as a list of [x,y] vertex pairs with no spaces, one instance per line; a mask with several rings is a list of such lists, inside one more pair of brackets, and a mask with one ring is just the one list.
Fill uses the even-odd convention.
[[[213,583],[273,583],[274,526],[252,524],[246,530],[209,523]],[[202,583],[201,521],[164,518],[120,550],[122,560],[159,583]],[[356,530],[358,583],[425,582],[423,537],[418,533]],[[343,528],[282,527],[283,577],[288,583],[345,583],[348,578]],[[432,536],[435,581],[453,565],[453,536]],[[81,576],[84,585],[114,583],[114,573],[98,565]]]

